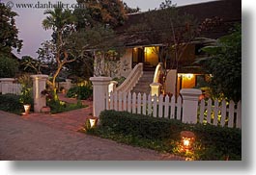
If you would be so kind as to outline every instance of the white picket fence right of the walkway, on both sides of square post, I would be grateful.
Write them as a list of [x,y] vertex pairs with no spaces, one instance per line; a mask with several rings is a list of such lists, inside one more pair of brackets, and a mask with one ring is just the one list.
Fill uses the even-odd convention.
[[[197,122],[241,128],[241,102],[235,105],[233,101],[229,103],[222,101],[221,107],[219,107],[217,100],[214,101],[213,105],[212,100],[207,102],[202,100],[198,104]],[[105,109],[183,120],[182,96],[179,96],[176,101],[175,96],[170,98],[168,95],[165,97],[163,95],[152,97],[145,93],[142,95],[140,93],[131,94],[130,92],[111,92],[106,95]]]

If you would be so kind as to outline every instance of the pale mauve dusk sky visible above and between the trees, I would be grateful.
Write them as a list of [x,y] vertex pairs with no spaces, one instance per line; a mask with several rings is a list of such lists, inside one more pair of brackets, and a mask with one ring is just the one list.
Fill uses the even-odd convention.
[[[58,0],[49,1],[49,0],[0,0],[5,4],[13,6],[13,11],[18,13],[16,17],[16,26],[19,30],[19,38],[23,40],[23,47],[21,52],[14,54],[21,58],[22,56],[31,56],[37,58],[37,50],[41,47],[41,43],[44,40],[48,40],[51,37],[51,31],[45,31],[42,27],[42,21],[46,15],[43,14],[45,9],[29,9],[29,8],[17,8],[18,4],[33,4],[34,6],[38,3],[52,3],[55,4],[60,2]],[[129,7],[139,7],[142,12],[148,11],[149,9],[156,9],[159,7],[159,4],[164,0],[124,0]],[[195,4],[200,2],[207,2],[213,0],[173,0],[174,4],[177,6],[183,6],[187,4]],[[76,0],[62,0],[63,3],[75,4]]]

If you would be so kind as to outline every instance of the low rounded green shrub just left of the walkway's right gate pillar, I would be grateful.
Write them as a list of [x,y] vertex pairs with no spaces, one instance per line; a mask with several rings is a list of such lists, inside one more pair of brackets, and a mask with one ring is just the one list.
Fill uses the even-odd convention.
[[87,100],[93,96],[93,88],[91,86],[71,87],[67,93],[69,98],[77,98],[79,100]]

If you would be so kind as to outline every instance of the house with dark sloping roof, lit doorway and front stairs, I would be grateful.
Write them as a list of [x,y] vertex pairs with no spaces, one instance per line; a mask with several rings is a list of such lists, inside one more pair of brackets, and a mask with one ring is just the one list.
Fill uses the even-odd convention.
[[[179,13],[188,13],[194,16],[198,22],[203,22],[207,18],[219,19],[220,22],[213,29],[202,32],[200,36],[194,38],[185,47],[181,59],[177,63],[179,66],[176,67],[176,71],[167,76],[167,89],[170,87],[167,92],[171,93],[175,93],[176,86],[178,90],[196,87],[200,82],[204,81],[205,76],[202,75],[200,67],[192,64],[197,58],[203,56],[200,49],[213,43],[214,39],[227,35],[235,23],[242,23],[241,0],[221,0],[177,8]],[[134,85],[127,88],[128,91],[149,93],[151,90],[150,84],[153,83],[153,78],[157,74],[156,67],[158,63],[161,63],[158,53],[165,45],[160,36],[170,29],[164,29],[162,26],[153,26],[151,29],[142,27],[142,30],[132,31],[134,26],[143,26],[145,24],[145,16],[153,15],[153,13],[160,13],[160,11],[128,14],[128,20],[125,25],[116,29],[119,38],[124,41],[126,46],[125,53],[118,58],[121,63],[119,75],[133,79],[138,77],[137,80],[133,81],[135,82]],[[171,60],[172,58],[169,62],[172,62]],[[143,73],[141,76],[130,75],[138,63],[143,63]],[[167,68],[172,69],[172,67]]]

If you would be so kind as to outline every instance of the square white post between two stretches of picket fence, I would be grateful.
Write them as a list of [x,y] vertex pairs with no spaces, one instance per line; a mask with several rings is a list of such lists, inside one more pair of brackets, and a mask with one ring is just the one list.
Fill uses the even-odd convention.
[[202,94],[200,89],[183,88],[180,93],[183,96],[183,122],[197,123],[198,99]]

